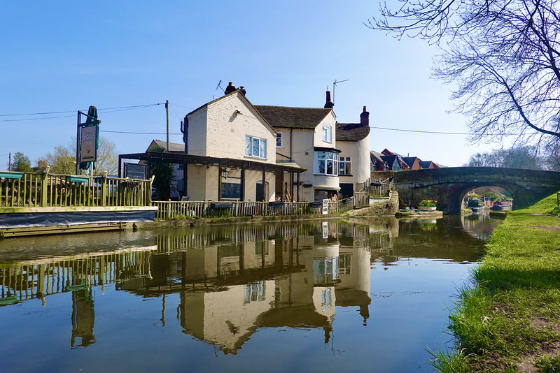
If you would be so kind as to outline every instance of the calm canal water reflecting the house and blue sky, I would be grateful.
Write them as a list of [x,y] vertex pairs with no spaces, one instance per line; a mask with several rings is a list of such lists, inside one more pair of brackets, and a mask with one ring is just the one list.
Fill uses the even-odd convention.
[[361,218],[0,241],[2,372],[431,372],[498,221]]

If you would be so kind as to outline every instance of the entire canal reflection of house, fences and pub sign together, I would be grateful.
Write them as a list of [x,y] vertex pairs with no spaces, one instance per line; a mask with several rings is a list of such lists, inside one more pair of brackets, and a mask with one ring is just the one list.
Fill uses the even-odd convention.
[[[221,346],[225,353],[236,353],[255,330],[265,327],[321,328],[328,342],[335,306],[359,306],[367,319],[367,227],[349,224],[350,234],[342,235],[342,224],[329,222],[328,237],[322,238],[321,225],[309,225],[303,231],[301,225],[251,226],[226,229],[223,235],[162,235],[152,247],[23,261],[20,268],[0,267],[0,300],[18,302],[11,297],[16,288],[20,296],[36,294],[43,302],[50,293],[76,291],[73,346],[95,342],[94,304],[87,291],[109,283],[141,296],[179,293],[183,332]],[[204,249],[185,251],[188,247]],[[30,268],[34,277],[28,276]],[[17,279],[14,271],[27,275]]]

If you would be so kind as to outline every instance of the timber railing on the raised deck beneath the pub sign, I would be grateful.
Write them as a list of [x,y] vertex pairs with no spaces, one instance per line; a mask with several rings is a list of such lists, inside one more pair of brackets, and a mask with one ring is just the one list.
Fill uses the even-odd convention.
[[6,207],[150,206],[151,180],[0,171]]

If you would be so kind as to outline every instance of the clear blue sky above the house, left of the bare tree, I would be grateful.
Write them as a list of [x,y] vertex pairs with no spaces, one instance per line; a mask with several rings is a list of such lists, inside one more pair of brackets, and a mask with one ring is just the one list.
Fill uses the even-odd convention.
[[[166,138],[164,105],[111,108],[169,100],[179,133],[186,113],[223,95],[220,80],[255,105],[311,108],[347,80],[335,87],[338,122],[359,122],[366,105],[373,127],[467,132],[447,113],[450,88],[430,79],[435,48],[368,29],[377,11],[374,1],[0,0],[0,170],[9,152],[36,166],[68,143],[90,105],[118,152],[144,152]],[[61,113],[12,116],[42,112]],[[370,149],[461,166],[492,148],[465,138],[372,129]]]

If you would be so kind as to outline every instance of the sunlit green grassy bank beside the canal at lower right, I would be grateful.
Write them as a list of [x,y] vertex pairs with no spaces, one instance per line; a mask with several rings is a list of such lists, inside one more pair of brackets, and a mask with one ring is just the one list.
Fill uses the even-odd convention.
[[560,207],[556,194],[507,213],[449,316],[458,350],[440,372],[560,372]]

